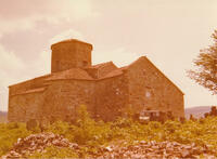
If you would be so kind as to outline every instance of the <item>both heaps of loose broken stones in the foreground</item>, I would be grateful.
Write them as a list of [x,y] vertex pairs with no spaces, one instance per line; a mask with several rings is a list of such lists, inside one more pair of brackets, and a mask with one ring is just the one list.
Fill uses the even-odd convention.
[[[53,133],[31,134],[26,138],[18,138],[14,147],[2,158],[25,158],[35,151],[42,153],[48,146],[68,147],[79,155],[80,146],[71,143],[61,135]],[[197,147],[195,144],[183,145],[176,142],[156,143],[136,141],[133,145],[120,147],[118,145],[110,145],[101,147],[98,154],[92,154],[92,158],[215,158],[215,151],[207,146]]]

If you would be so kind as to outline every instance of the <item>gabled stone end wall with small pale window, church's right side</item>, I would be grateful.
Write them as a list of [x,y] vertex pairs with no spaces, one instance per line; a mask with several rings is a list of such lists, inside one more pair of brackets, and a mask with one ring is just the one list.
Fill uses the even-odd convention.
[[135,109],[171,110],[183,117],[183,94],[146,57],[140,57],[127,70],[129,105]]

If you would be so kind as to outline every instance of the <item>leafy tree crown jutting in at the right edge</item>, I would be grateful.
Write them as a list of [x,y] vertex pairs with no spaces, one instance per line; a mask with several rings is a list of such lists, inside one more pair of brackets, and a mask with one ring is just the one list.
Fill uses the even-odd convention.
[[188,70],[188,76],[213,94],[217,94],[217,30],[212,38],[214,44],[200,51],[197,58],[193,61],[197,68]]

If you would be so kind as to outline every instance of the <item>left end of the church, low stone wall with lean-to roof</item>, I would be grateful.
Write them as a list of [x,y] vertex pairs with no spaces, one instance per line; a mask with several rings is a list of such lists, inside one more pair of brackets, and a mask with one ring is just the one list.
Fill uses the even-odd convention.
[[9,87],[9,121],[27,121],[39,117],[38,107],[43,103],[43,96],[42,91],[35,89],[44,87],[48,76]]

